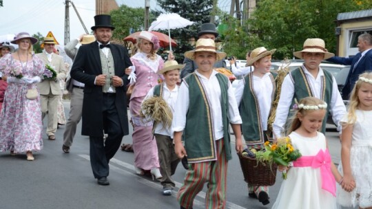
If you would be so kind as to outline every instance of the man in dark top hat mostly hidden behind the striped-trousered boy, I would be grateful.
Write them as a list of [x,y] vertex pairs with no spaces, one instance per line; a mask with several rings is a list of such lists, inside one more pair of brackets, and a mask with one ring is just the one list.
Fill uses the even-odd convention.
[[[216,31],[216,25],[213,23],[204,23],[200,26],[200,32],[198,33],[198,39],[212,39],[216,40],[218,36],[218,32]],[[183,68],[183,70],[180,73],[181,78],[185,78],[188,74],[191,74],[195,71],[195,69],[198,68],[198,65],[194,61],[192,61],[189,58],[185,58],[183,60],[183,64],[186,66]],[[225,67],[226,63],[225,59],[222,59],[221,61],[217,61],[214,63],[214,67]]]

